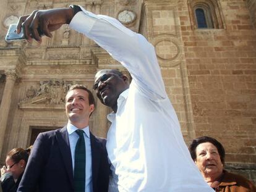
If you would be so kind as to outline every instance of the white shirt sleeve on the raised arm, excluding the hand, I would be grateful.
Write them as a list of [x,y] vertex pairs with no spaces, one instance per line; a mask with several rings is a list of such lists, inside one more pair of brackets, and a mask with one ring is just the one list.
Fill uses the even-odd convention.
[[112,17],[81,9],[83,12],[74,16],[70,27],[94,40],[121,62],[132,75],[132,83],[145,96],[154,101],[167,98],[155,48],[145,37]]

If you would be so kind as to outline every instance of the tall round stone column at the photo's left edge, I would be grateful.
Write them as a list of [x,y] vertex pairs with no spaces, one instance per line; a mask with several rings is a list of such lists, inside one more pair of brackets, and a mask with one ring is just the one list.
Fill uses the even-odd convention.
[[6,85],[4,86],[4,93],[2,94],[2,101],[0,106],[0,155],[2,153],[2,144],[4,143],[7,120],[12,101],[12,92],[14,90],[17,73],[15,70],[8,70],[6,73]]

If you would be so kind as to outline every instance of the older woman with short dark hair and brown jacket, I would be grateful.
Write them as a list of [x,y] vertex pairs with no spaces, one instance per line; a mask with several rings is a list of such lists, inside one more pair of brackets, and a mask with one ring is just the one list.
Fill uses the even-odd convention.
[[222,144],[214,138],[202,136],[193,140],[189,151],[205,182],[215,191],[256,191],[252,182],[223,169],[225,150]]

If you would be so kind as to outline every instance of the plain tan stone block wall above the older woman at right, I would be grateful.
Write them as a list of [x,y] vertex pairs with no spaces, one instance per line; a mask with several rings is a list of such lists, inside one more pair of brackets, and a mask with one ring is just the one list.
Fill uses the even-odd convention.
[[180,17],[195,134],[219,140],[227,162],[255,165],[256,31],[244,1],[220,8],[223,28],[192,29],[187,6]]

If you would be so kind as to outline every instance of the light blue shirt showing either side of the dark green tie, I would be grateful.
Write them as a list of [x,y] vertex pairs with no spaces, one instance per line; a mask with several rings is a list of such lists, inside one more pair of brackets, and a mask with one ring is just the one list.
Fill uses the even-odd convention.
[[[69,136],[69,146],[72,157],[72,167],[74,174],[74,166],[75,166],[75,146],[77,144],[77,140],[79,140],[79,135],[75,132],[78,130],[77,127],[72,125],[71,123],[67,123],[67,133]],[[92,183],[92,148],[90,142],[90,131],[89,127],[85,127],[81,129],[84,131],[83,138],[85,138],[85,191],[93,192],[93,183]]]

